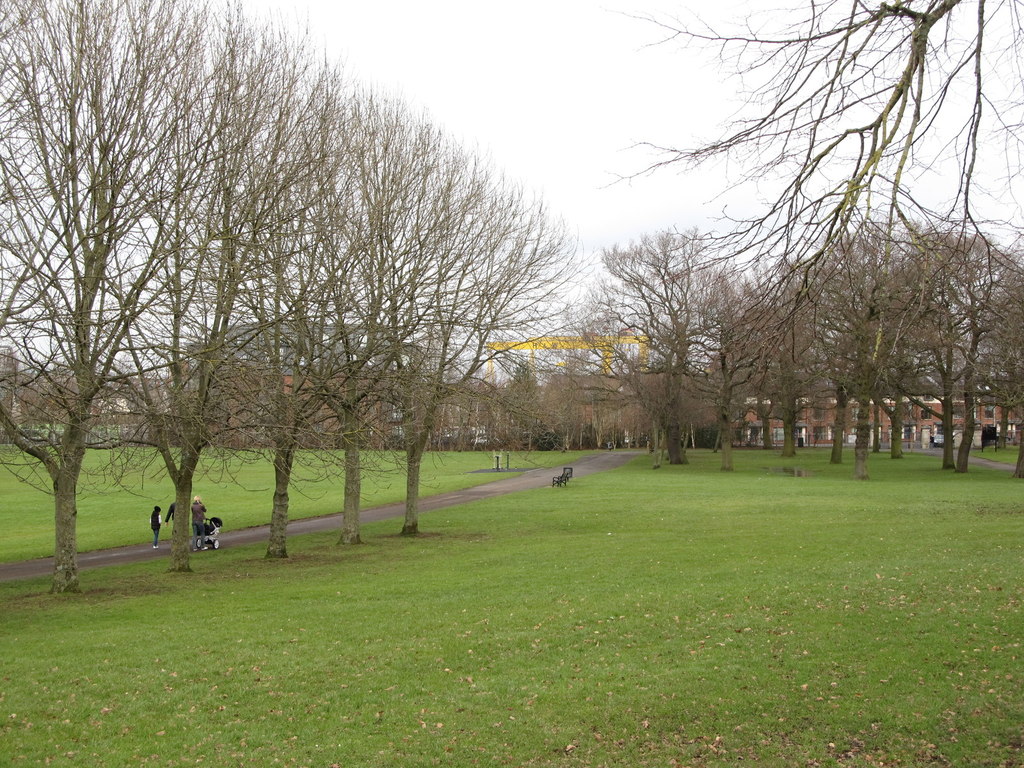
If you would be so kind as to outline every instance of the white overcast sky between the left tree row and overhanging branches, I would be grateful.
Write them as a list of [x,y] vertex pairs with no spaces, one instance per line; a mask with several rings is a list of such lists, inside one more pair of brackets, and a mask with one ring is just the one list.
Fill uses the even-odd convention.
[[708,173],[617,180],[655,159],[638,143],[691,144],[735,106],[713,61],[658,44],[655,25],[630,16],[678,14],[692,2],[244,2],[308,23],[351,77],[426,110],[541,195],[589,262],[654,229],[712,228],[725,205]]

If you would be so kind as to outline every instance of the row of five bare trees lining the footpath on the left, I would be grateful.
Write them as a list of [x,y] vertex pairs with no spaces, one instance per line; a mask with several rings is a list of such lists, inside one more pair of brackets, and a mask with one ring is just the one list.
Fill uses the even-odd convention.
[[[426,116],[237,10],[0,0],[0,427],[52,489],[52,591],[79,589],[86,452],[126,437],[178,509],[205,452],[266,446],[285,556],[314,435],[345,449],[358,541],[366,416],[386,403],[415,532],[437,411],[489,339],[550,312],[561,226]],[[96,429],[112,414],[117,435]],[[188,561],[177,515],[171,569]]]

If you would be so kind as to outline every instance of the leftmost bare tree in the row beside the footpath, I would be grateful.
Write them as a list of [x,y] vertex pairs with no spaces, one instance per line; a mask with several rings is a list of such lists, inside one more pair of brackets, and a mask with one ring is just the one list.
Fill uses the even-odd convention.
[[[161,299],[179,110],[201,17],[156,0],[0,3],[4,344],[16,365],[4,431],[50,479],[53,592],[80,589],[76,497],[99,398],[128,330]],[[23,418],[45,396],[49,426]]]

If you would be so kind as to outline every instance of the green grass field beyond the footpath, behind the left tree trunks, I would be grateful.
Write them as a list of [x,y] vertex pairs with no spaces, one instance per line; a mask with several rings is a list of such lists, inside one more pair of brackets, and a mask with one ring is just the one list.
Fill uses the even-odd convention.
[[[511,454],[510,467],[530,468],[561,466],[583,455],[581,452]],[[332,464],[317,461],[319,455],[306,455],[296,468],[290,492],[289,517],[329,515],[341,511],[343,481],[340,457]],[[103,463],[118,457],[97,452],[90,456],[88,472],[80,485],[78,504],[79,551],[152,543],[150,513],[160,506],[167,509],[174,501],[174,486],[160,466],[131,471]],[[19,455],[0,454],[12,469],[26,476],[37,471],[24,463]],[[423,496],[442,494],[478,485],[495,479],[494,473],[474,470],[494,466],[489,453],[433,453],[423,463],[420,482]],[[362,481],[362,504],[372,507],[400,502],[406,498],[406,475],[396,455],[368,454]],[[503,465],[504,466],[504,465]],[[31,482],[18,480],[11,471],[0,471],[0,562],[14,562],[53,554],[53,499],[40,488],[48,480],[38,474],[28,475]],[[117,477],[117,481],[113,478]],[[273,503],[273,469],[257,456],[238,456],[230,461],[208,458],[197,479],[194,492],[202,495],[211,515],[224,520],[227,528],[263,525],[270,521]],[[170,536],[165,528],[162,538]]]

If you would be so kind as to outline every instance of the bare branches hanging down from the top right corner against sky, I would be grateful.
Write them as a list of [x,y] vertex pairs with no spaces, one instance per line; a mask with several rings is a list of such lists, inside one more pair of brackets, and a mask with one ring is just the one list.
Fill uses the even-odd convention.
[[734,32],[657,24],[742,82],[745,105],[721,137],[659,147],[655,166],[749,163],[743,180],[767,205],[737,222],[737,248],[784,254],[811,278],[865,216],[888,230],[935,211],[972,226],[1017,216],[1001,204],[1020,177],[1024,125],[1017,0],[825,0],[765,9]]

